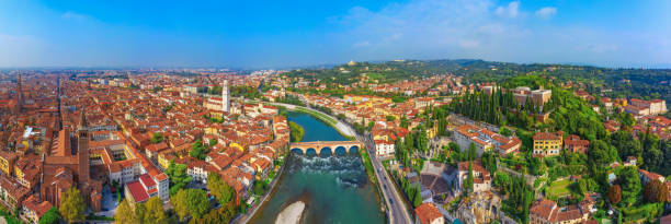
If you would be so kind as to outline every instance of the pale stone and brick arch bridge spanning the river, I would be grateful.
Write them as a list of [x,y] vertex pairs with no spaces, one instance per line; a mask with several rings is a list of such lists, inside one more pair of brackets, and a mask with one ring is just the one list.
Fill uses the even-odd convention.
[[359,153],[363,145],[359,141],[316,141],[292,143],[289,149],[292,152],[306,155],[344,155]]

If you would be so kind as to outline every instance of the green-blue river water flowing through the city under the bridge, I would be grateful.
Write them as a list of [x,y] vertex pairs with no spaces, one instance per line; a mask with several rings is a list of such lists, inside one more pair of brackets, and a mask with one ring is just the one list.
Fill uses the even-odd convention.
[[[344,141],[337,130],[317,118],[289,113],[305,129],[303,141]],[[274,194],[250,223],[275,223],[277,214],[300,200],[302,223],[384,223],[377,189],[368,180],[359,154],[309,156],[292,153]]]

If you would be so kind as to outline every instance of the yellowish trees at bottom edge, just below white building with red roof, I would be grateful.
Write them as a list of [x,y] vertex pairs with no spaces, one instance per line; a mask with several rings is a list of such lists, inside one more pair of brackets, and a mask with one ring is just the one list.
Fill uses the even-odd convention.
[[161,224],[169,223],[169,220],[163,212],[163,202],[158,197],[133,205],[124,199],[114,214],[114,222],[120,224]]

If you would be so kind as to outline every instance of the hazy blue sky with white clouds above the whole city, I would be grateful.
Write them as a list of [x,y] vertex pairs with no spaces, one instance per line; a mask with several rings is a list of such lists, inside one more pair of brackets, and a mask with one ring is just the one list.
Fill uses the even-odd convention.
[[0,67],[671,67],[671,1],[0,1]]

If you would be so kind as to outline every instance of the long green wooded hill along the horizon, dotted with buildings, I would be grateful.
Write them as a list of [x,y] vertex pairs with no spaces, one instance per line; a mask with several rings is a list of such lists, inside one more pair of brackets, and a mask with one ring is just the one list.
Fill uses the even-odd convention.
[[350,62],[325,69],[293,70],[284,74],[309,81],[320,80],[321,83],[327,84],[351,84],[362,79],[368,82],[393,83],[442,73],[464,76],[465,84],[502,83],[515,75],[536,74],[562,82],[582,83],[582,89],[592,94],[671,101],[671,69],[612,69],[591,66],[444,59]]

